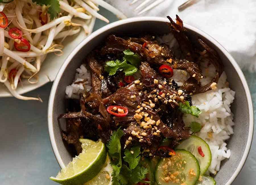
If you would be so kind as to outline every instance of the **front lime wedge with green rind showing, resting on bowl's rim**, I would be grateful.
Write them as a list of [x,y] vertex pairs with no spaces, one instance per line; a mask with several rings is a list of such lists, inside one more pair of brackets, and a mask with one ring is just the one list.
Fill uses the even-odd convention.
[[63,185],[81,185],[94,178],[105,164],[107,152],[104,143],[80,139],[82,153],[73,158],[56,177],[51,180]]

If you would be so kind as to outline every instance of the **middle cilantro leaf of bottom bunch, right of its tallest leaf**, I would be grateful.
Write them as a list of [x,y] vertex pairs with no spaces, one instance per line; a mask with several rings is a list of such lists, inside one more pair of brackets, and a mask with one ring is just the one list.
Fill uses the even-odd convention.
[[[133,154],[131,153],[133,152]],[[135,169],[135,167],[139,164],[139,161],[141,159],[141,156],[139,156],[141,153],[141,147],[140,146],[134,146],[130,150],[126,149],[123,157],[124,161],[129,164],[130,170]]]

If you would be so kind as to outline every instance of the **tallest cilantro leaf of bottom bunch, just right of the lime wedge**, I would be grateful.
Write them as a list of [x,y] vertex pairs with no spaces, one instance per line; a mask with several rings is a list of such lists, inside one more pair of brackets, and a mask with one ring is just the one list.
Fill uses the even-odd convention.
[[[113,134],[110,136],[110,141],[107,144],[108,152],[110,157],[113,157],[115,159],[119,159],[121,161],[121,143],[120,139],[123,136],[123,131],[119,128],[116,131],[113,132]],[[122,161],[121,161],[122,164]]]

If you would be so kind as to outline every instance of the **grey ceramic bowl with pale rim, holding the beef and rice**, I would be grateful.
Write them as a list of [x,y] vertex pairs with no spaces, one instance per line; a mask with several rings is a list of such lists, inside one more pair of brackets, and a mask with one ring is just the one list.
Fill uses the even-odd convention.
[[[48,107],[48,126],[51,144],[61,168],[65,167],[72,160],[72,157],[61,138],[61,128],[59,125],[65,125],[65,123],[58,123],[57,117],[65,113],[65,88],[72,83],[76,69],[82,64],[84,57],[111,33],[169,33],[166,26],[167,21],[166,18],[139,17],[114,22],[88,36],[65,60],[53,83]],[[235,101],[232,104],[235,121],[234,135],[228,141],[228,148],[231,149],[232,155],[230,159],[222,162],[221,169],[215,178],[218,185],[229,185],[241,171],[251,146],[253,137],[253,106],[250,92],[241,69],[226,49],[205,32],[187,24],[184,24],[184,26],[190,31],[193,38],[197,36],[203,37],[216,49],[224,63],[224,70],[228,76],[230,86],[236,91]],[[65,120],[61,121],[65,122]]]

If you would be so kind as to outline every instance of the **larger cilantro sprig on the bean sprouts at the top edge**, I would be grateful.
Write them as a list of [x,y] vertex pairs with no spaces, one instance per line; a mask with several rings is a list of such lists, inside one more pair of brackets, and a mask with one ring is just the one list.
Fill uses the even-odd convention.
[[58,17],[60,12],[59,0],[32,0],[32,2],[40,6],[46,5],[51,19]]

